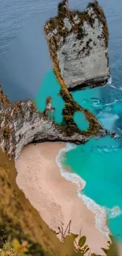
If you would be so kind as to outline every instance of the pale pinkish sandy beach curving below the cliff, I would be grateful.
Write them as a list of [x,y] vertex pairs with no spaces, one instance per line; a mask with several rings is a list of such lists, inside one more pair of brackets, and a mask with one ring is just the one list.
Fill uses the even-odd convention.
[[87,236],[87,244],[95,254],[102,254],[107,238],[95,228],[94,213],[77,196],[77,186],[61,176],[55,161],[63,143],[29,144],[16,161],[17,184],[39,211],[43,221],[54,231],[66,227],[71,220],[71,231]]

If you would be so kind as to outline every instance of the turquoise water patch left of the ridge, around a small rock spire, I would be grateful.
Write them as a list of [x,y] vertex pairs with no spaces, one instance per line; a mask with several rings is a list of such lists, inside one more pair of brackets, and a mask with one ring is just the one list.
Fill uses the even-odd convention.
[[[39,88],[38,95],[35,98],[35,104],[39,112],[43,113],[46,109],[46,98],[52,97],[53,107],[54,107],[54,121],[57,124],[61,124],[63,119],[62,110],[65,106],[64,100],[59,95],[60,84],[57,82],[56,77],[54,76],[54,71],[47,72],[44,76],[43,83]],[[51,113],[49,113],[50,118],[52,118]]]

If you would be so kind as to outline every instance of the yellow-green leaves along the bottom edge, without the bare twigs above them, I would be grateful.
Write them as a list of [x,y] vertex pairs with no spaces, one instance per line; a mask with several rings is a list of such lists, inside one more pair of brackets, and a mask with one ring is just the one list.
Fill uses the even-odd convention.
[[[60,251],[61,256],[83,256],[86,255],[87,251],[89,251],[89,256],[101,256],[91,253],[90,248],[87,246],[87,244],[85,244],[86,236],[81,236],[76,242],[78,237],[79,235],[71,233],[71,235],[64,238],[64,242],[62,243]],[[109,241],[108,248],[102,248],[102,250],[107,256],[118,256],[113,238],[111,236],[110,238],[112,242]],[[31,247],[31,245],[29,245],[27,241],[23,241],[23,243],[20,244],[17,239],[13,239],[13,243],[5,243],[3,245],[2,249],[0,249],[0,256],[32,256],[32,254],[29,254],[29,247]],[[41,255],[42,254],[39,254],[39,256]],[[50,256],[50,254],[48,255]]]

